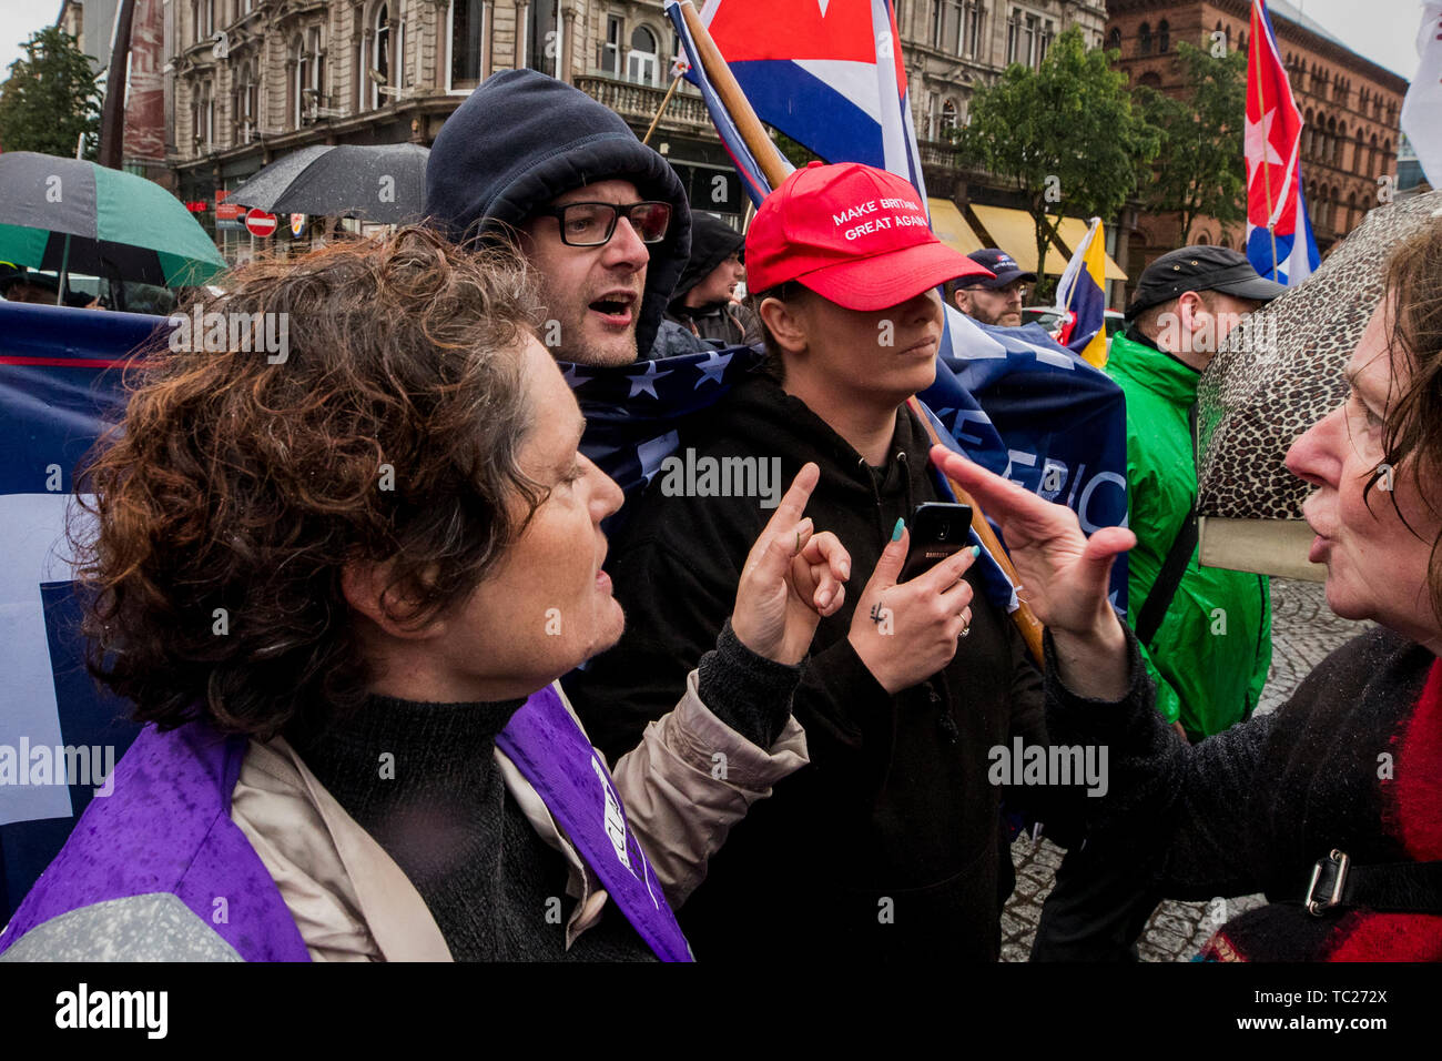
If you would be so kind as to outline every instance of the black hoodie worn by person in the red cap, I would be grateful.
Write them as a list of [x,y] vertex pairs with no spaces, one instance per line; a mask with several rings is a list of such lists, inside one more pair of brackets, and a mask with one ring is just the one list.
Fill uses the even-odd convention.
[[[678,456],[688,447],[696,459],[779,458],[780,489],[816,460],[820,482],[806,514],[852,556],[846,603],[820,622],[793,702],[810,765],[735,826],[679,911],[696,957],[995,960],[1012,869],[988,751],[1012,735],[1045,741],[1041,677],[972,573],[972,632],[926,683],[887,694],[846,641],[897,518],[939,499],[924,429],[901,407],[887,463],[872,469],[758,374],[682,432]],[[715,644],[773,511],[754,497],[663,489],[658,475],[611,543],[622,642],[565,680],[609,755],[637,743]]]

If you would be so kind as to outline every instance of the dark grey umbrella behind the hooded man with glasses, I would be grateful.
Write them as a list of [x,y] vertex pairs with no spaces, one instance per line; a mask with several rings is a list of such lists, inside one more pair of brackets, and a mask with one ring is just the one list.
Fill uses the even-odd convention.
[[425,205],[420,144],[303,147],[273,162],[229,193],[228,201],[270,214],[326,214],[410,224]]

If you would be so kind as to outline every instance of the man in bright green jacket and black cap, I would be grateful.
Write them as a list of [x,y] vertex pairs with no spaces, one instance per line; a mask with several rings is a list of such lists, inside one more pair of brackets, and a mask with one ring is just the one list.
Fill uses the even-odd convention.
[[[1182,247],[1148,266],[1113,336],[1106,372],[1126,394],[1128,622],[1178,739],[1201,741],[1257,704],[1272,663],[1266,576],[1197,562],[1197,381],[1243,315],[1286,289],[1237,251]],[[1135,959],[1158,896],[1109,852],[1067,853],[1043,905],[1034,961]]]

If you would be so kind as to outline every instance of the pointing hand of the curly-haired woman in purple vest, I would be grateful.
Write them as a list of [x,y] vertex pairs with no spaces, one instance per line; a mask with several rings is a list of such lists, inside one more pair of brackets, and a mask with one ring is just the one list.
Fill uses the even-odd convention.
[[835,534],[818,534],[810,518],[802,518],[819,479],[815,463],[796,473],[751,546],[735,590],[731,629],[743,645],[776,663],[806,658],[816,624],[846,599],[851,554]]

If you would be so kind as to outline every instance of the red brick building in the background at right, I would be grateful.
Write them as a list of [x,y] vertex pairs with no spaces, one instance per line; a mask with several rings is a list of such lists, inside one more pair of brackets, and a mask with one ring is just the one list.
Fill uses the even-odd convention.
[[[1211,49],[1220,33],[1229,49],[1247,49],[1249,0],[1107,0],[1106,10],[1106,46],[1120,49],[1118,68],[1133,85],[1180,92],[1174,62],[1180,40]],[[1396,175],[1407,81],[1357,55],[1292,4],[1269,0],[1268,10],[1302,111],[1302,180],[1325,256],[1390,188],[1381,178]],[[1188,234],[1175,215],[1144,212],[1131,231],[1129,271],[1135,283],[1141,264],[1175,247],[1210,243],[1240,250],[1244,240],[1244,224],[1198,218]]]

